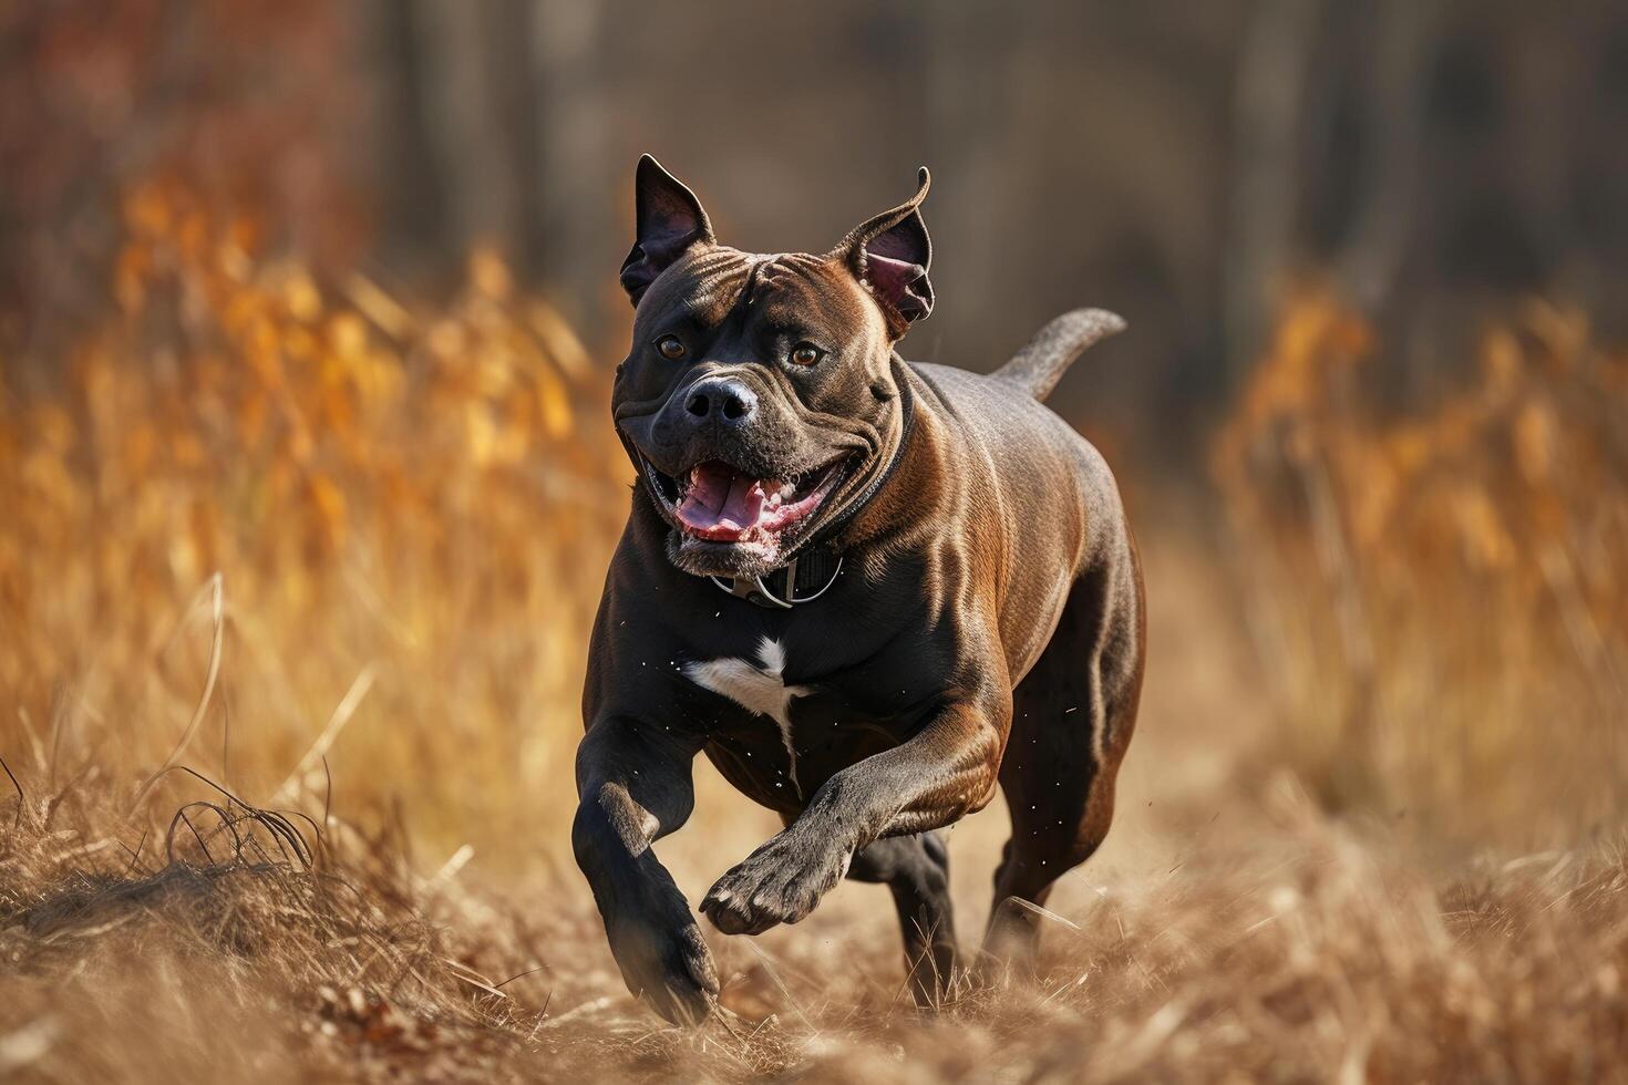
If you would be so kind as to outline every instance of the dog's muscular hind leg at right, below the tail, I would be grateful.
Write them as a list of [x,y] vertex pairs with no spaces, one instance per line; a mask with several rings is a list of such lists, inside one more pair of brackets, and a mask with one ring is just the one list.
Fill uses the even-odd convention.
[[1141,577],[1127,548],[1118,566],[1088,571],[1070,592],[1050,644],[1013,693],[1001,791],[1013,836],[995,872],[983,948],[1029,966],[1052,885],[1107,836],[1114,779],[1136,722],[1143,669]]

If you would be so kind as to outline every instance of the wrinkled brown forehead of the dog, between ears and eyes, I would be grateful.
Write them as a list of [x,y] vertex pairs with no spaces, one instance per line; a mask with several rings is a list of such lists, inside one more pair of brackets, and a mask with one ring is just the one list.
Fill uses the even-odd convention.
[[698,249],[667,268],[641,299],[637,322],[679,316],[716,327],[731,312],[749,307],[770,325],[853,333],[874,309],[868,303],[853,277],[827,257],[762,255],[718,246]]

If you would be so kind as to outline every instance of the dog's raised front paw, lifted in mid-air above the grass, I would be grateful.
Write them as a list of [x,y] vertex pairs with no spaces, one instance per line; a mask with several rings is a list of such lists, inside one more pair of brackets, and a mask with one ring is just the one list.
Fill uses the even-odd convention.
[[851,852],[786,830],[718,878],[702,913],[724,934],[762,934],[814,911],[848,870]]

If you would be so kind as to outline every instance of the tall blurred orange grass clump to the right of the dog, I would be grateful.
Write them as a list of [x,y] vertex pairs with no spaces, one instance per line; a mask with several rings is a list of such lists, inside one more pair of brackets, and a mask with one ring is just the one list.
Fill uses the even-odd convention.
[[1408,810],[1429,836],[1608,831],[1628,799],[1628,356],[1530,304],[1460,390],[1397,418],[1374,405],[1372,338],[1301,298],[1216,446],[1289,760],[1327,802]]

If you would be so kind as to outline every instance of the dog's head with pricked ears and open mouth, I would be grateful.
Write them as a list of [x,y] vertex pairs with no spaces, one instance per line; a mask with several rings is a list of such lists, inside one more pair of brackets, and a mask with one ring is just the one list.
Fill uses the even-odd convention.
[[933,309],[926,190],[923,169],[908,202],[824,255],[759,255],[718,244],[695,195],[640,159],[612,413],[681,569],[762,576],[887,470],[892,346]]

